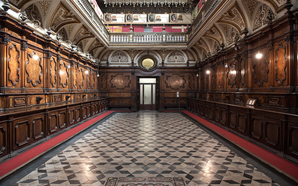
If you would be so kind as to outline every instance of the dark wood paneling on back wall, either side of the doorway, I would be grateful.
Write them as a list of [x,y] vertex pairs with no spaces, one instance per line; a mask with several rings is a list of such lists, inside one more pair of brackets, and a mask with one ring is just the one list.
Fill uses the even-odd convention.
[[131,67],[101,67],[100,91],[110,98],[111,109],[137,110],[139,103],[137,77],[156,77],[159,87],[157,94],[160,99],[159,110],[177,109],[179,99],[176,92],[180,92],[181,107],[186,108],[186,97],[194,96],[197,87],[196,69],[193,67],[156,67],[152,70]]

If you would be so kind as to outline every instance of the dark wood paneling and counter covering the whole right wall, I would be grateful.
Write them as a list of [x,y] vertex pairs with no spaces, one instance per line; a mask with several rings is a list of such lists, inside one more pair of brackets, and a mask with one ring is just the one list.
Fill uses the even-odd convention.
[[[258,35],[210,57],[212,70],[208,75],[207,64],[200,66],[199,90],[187,98],[187,108],[297,163],[297,11],[260,31],[263,57],[255,57]],[[257,105],[246,106],[249,98],[257,99]]]

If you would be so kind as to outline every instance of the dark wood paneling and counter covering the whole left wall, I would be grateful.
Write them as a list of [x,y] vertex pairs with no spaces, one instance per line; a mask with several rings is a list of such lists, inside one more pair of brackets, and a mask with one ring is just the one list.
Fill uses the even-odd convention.
[[1,162],[107,110],[109,100],[90,61],[49,37],[35,43],[26,24],[0,19]]

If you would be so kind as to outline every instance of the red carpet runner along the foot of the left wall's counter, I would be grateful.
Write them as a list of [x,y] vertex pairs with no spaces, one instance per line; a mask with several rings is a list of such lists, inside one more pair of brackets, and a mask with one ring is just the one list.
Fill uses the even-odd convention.
[[0,178],[115,111],[107,111],[0,164]]

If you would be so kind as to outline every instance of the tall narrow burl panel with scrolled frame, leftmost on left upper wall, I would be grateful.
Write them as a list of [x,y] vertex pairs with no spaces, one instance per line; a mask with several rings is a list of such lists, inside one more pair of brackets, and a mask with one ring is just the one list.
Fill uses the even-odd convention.
[[8,60],[7,60],[7,80],[10,83],[7,83],[8,87],[20,87],[16,86],[20,81],[20,45],[12,44],[8,47]]

